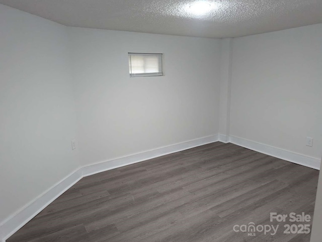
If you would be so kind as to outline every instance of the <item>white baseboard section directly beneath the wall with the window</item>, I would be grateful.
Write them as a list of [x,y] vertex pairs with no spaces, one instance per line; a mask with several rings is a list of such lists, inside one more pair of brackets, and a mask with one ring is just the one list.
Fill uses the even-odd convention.
[[196,140],[191,140],[171,146],[161,147],[155,150],[145,151],[142,153],[101,162],[94,165],[83,167],[83,176],[90,176],[99,172],[108,171],[122,166],[131,165],[137,162],[146,161],[159,156],[191,149],[197,146],[206,145],[218,141],[218,135],[207,136]]

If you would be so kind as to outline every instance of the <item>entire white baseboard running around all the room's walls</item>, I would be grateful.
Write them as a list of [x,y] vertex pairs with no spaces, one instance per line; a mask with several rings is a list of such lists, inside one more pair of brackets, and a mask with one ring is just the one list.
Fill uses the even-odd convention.
[[292,163],[307,166],[316,170],[319,170],[320,160],[294,152],[286,151],[269,145],[261,144],[258,142],[242,139],[239,137],[225,135],[213,135],[208,137],[203,137],[196,140],[191,140],[171,146],[166,146],[158,148],[155,150],[145,151],[142,153],[101,162],[98,164],[85,166],[78,169],[77,171],[71,173],[62,181],[58,182],[52,188],[48,189],[42,195],[34,199],[31,203],[27,204],[24,208],[18,211],[16,214],[11,216],[9,219],[5,220],[0,224],[0,239],[5,242],[12,234],[14,234],[18,229],[30,221],[34,216],[36,216],[40,211],[42,211],[46,206],[48,206],[52,201],[59,197],[68,188],[74,185],[77,181],[85,176],[90,176],[103,171],[115,169],[118,167],[134,164],[137,162],[149,160],[155,157],[168,155],[171,153],[191,149],[194,147],[210,144],[216,141],[221,141],[223,143],[232,143],[241,147],[245,147],[263,154],[274,156]]

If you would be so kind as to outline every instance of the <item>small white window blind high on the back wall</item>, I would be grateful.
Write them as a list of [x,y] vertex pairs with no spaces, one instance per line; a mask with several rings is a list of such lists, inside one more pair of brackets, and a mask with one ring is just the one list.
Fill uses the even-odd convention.
[[162,54],[129,53],[130,77],[162,76]]

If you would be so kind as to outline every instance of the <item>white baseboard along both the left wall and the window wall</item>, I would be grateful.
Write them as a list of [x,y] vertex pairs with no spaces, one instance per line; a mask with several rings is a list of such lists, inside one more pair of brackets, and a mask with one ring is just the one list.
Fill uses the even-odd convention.
[[213,135],[80,168],[0,224],[0,239],[2,242],[5,242],[7,238],[85,176],[191,149],[197,146],[210,144],[216,141],[218,141],[218,135]]

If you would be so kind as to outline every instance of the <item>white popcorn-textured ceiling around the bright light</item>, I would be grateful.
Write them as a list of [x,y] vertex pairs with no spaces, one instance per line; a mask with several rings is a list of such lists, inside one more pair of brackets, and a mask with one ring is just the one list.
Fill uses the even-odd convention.
[[1,4],[85,28],[238,37],[322,23],[322,0],[209,0],[205,16],[186,11],[194,0],[0,0]]

